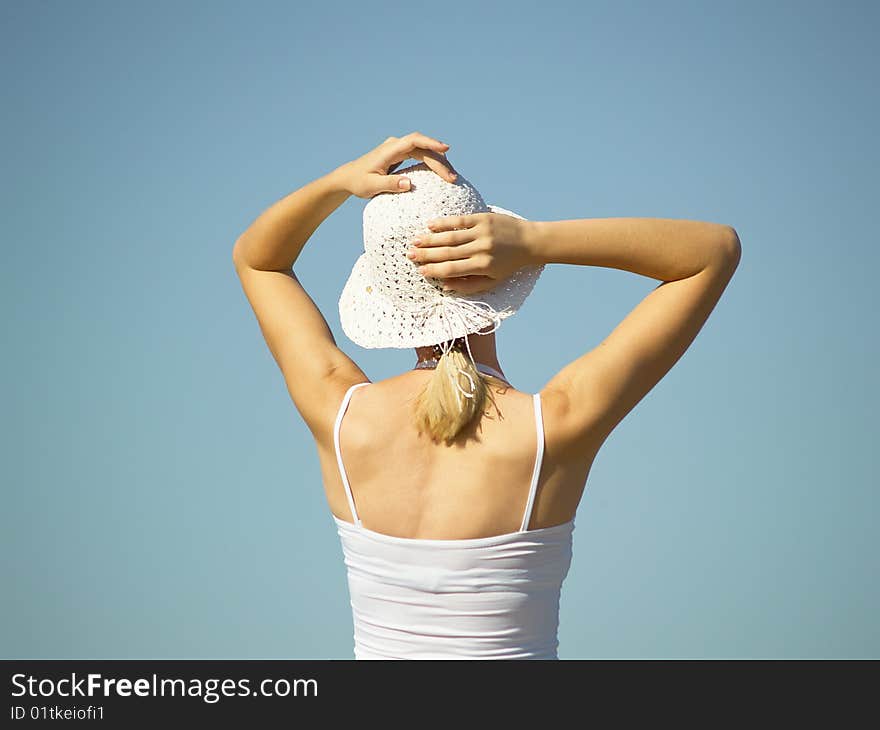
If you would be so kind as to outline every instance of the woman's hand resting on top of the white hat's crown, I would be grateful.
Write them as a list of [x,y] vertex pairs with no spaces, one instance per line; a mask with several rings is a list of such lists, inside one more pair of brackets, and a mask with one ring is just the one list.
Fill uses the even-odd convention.
[[406,175],[391,175],[391,171],[410,157],[424,162],[448,182],[455,182],[455,170],[445,152],[449,145],[420,132],[405,137],[389,137],[374,150],[335,170],[342,187],[359,198],[372,198],[379,193],[402,193],[410,188]]

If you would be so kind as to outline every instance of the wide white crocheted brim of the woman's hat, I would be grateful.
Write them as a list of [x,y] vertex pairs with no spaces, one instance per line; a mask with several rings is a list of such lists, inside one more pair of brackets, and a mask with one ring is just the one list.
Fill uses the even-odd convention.
[[[522,216],[499,206],[489,205],[493,213]],[[525,220],[525,219],[523,219]],[[452,300],[483,302],[491,306],[499,320],[516,314],[531,294],[543,271],[543,266],[525,267],[515,271],[498,286],[472,295],[445,293]],[[339,318],[345,335],[361,347],[399,348],[429,347],[448,339],[474,334],[490,325],[466,312],[464,316],[444,321],[443,310],[438,308],[429,315],[416,314],[396,306],[393,300],[371,284],[371,270],[367,255],[362,253],[355,261],[351,274],[339,297]]]

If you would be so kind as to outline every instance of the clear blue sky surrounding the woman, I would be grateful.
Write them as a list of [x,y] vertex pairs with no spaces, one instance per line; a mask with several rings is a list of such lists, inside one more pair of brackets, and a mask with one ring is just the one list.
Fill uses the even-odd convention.
[[[308,429],[230,253],[389,135],[530,219],[733,225],[739,269],[600,451],[561,658],[880,655],[873,3],[0,8],[6,658],[351,658]],[[351,198],[297,273],[337,300]],[[656,282],[550,266],[534,392]],[[562,336],[564,328],[567,334]]]

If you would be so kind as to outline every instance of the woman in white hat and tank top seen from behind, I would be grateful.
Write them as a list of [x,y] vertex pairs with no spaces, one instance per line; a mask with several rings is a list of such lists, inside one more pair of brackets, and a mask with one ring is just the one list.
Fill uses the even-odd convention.
[[[693,342],[740,243],[730,226],[698,221],[528,221],[485,205],[448,149],[416,132],[389,137],[269,207],[233,261],[318,447],[355,657],[555,659],[593,460]],[[408,158],[421,162],[390,174]],[[340,300],[343,327],[366,347],[414,346],[417,358],[376,383],[336,346],[292,270],[351,195],[370,202],[365,253]],[[507,381],[494,332],[551,263],[661,283],[528,394]]]

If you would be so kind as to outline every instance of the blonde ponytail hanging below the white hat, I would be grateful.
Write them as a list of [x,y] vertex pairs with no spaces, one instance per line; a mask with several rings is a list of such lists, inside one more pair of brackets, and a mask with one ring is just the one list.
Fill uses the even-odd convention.
[[[477,370],[460,342],[456,340],[440,356],[433,375],[414,401],[413,418],[419,433],[427,433],[434,442],[445,441],[447,446],[482,413],[487,400],[497,408],[489,385],[509,387],[500,378]],[[466,392],[473,392],[473,398],[466,397],[456,383]]]

